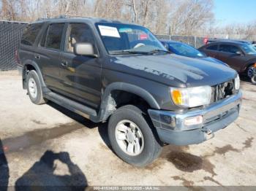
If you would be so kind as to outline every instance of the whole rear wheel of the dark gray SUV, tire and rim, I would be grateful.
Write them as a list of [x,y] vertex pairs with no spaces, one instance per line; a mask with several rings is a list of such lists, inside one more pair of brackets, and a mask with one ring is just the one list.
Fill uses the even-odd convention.
[[40,105],[47,102],[42,96],[42,87],[39,82],[37,71],[29,71],[29,74],[26,77],[26,89],[28,90],[30,100],[34,104]]

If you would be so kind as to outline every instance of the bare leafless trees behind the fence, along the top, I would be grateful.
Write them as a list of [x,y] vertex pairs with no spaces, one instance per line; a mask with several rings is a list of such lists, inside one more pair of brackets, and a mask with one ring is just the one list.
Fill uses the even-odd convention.
[[156,34],[252,38],[256,21],[217,27],[213,5],[213,0],[0,0],[0,19],[33,21],[81,15],[138,23]]

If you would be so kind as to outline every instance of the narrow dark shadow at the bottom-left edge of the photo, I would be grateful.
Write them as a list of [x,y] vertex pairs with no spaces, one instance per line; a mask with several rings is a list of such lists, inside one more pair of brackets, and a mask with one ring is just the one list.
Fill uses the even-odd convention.
[[4,155],[4,147],[0,139],[0,190],[7,191],[9,176],[7,158]]

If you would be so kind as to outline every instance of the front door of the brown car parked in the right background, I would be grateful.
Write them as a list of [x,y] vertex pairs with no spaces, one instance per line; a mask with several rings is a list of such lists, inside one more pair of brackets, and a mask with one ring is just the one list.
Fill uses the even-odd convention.
[[238,55],[237,52],[243,51],[240,47],[232,44],[219,44],[219,55],[217,59],[227,63],[236,71],[240,71],[244,63],[244,55]]

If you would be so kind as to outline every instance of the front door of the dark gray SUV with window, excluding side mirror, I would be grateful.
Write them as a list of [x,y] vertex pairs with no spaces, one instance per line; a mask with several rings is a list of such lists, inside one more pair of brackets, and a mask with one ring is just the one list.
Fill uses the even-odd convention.
[[101,100],[101,64],[99,58],[75,55],[76,43],[89,42],[97,51],[97,41],[86,23],[69,23],[64,52],[61,53],[61,88],[65,95],[97,109]]

